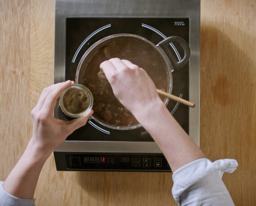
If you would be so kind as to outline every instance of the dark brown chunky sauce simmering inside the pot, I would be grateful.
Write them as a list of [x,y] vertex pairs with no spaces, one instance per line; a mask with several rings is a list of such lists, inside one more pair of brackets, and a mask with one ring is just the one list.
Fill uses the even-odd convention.
[[[113,126],[137,125],[136,118],[115,97],[104,72],[99,68],[101,62],[114,57],[127,59],[146,70],[156,88],[163,91],[168,91],[169,87],[168,69],[156,49],[141,39],[119,37],[104,44],[91,51],[93,56],[90,61],[81,66],[81,69],[86,67],[82,82],[93,93],[93,116]],[[160,97],[164,100],[163,96]]]

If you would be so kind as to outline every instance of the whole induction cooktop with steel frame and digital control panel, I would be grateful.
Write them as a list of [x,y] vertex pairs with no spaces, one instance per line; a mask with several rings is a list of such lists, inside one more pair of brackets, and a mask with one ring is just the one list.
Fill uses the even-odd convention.
[[[177,1],[170,4],[167,0],[157,6],[152,1],[152,5],[150,3],[145,8],[146,11],[137,1],[123,3],[128,2],[137,5],[134,6],[136,9],[124,10],[119,4],[114,6],[118,7],[116,10],[105,1],[98,1],[96,5],[92,0],[72,3],[56,0],[54,82],[75,81],[76,70],[84,53],[106,36],[135,34],[154,44],[169,36],[179,36],[190,44],[191,56],[189,63],[172,72],[172,94],[193,101],[196,107],[189,108],[169,100],[167,108],[199,145],[200,2],[193,1],[196,4],[187,8],[189,5]],[[160,11],[160,8],[163,10]],[[181,13],[178,14],[176,9]],[[179,45],[170,44],[170,47],[177,60],[181,60],[184,54]],[[54,116],[62,118],[57,108]],[[92,118],[54,150],[54,158],[57,170],[62,171],[171,171],[161,150],[143,127],[116,130],[104,127]]]

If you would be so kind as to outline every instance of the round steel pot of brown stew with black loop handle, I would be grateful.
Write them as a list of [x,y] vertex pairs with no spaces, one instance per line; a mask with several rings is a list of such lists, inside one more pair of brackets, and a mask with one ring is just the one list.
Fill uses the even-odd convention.
[[[172,42],[178,42],[184,51],[184,57],[181,61],[178,61],[172,53],[170,48]],[[94,104],[101,101],[100,98],[102,95],[105,95],[105,99],[115,98],[110,84],[107,82],[106,77],[104,79],[104,75],[99,69],[99,65],[102,61],[114,57],[128,59],[132,61],[132,63],[145,69],[150,78],[153,79],[157,88],[171,93],[172,72],[187,63],[190,57],[190,48],[184,39],[177,36],[168,37],[157,45],[141,36],[132,34],[110,35],[97,41],[84,53],[84,56],[79,62],[75,76],[75,83],[83,84],[91,90],[94,97]],[[168,98],[162,98],[162,100],[165,105],[168,104]],[[111,102],[116,101],[118,100],[114,99]],[[103,103],[100,106],[102,106]],[[99,107],[99,105],[96,105],[95,110],[99,109],[97,106]],[[104,103],[102,108],[105,113],[106,111],[108,112],[108,108],[105,108],[106,106],[110,108],[111,105],[110,103]],[[121,118],[121,116],[124,116],[124,113],[127,118],[130,118],[132,114],[129,114],[128,111],[123,111],[123,113],[120,114],[117,109],[112,111],[111,114],[109,113],[109,117],[104,116],[104,112],[102,112],[102,110],[100,110],[100,112],[94,111],[92,118],[105,127],[118,130],[130,130],[141,127],[138,122],[133,120],[133,123],[131,122],[132,124],[125,123],[124,125],[119,125],[119,120],[117,121],[117,119],[115,119],[114,122],[113,117],[120,116]],[[108,119],[110,120],[108,121]],[[122,121],[125,122],[126,119],[123,117]]]

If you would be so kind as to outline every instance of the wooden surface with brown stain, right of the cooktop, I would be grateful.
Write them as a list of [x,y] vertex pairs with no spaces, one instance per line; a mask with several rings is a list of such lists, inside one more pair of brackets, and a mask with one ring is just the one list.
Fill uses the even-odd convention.
[[237,159],[223,181],[236,205],[256,205],[255,1],[205,0],[201,11],[200,146],[212,161]]

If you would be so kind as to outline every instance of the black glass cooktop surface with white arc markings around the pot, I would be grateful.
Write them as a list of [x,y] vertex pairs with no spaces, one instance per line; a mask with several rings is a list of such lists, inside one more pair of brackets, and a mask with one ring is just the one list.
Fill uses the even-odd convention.
[[[80,59],[95,42],[113,34],[140,35],[154,44],[169,36],[179,36],[189,43],[189,18],[66,18],[66,69],[65,80],[75,81]],[[177,59],[182,50],[176,48]],[[172,94],[185,100],[189,98],[189,64],[172,72]],[[189,133],[188,106],[170,100],[168,110]],[[115,130],[104,127],[93,119],[74,131],[66,140],[75,141],[154,141],[143,127],[133,130]]]

